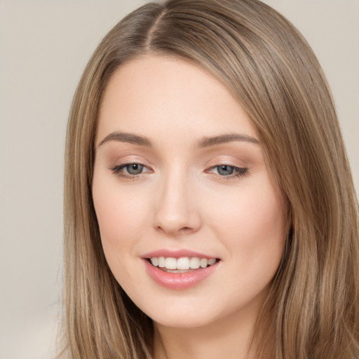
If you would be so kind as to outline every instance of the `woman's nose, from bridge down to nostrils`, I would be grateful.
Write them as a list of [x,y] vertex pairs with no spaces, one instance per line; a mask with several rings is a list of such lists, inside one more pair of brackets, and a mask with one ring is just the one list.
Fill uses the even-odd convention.
[[154,228],[168,236],[194,233],[201,227],[198,192],[185,175],[170,175],[158,184],[154,201]]

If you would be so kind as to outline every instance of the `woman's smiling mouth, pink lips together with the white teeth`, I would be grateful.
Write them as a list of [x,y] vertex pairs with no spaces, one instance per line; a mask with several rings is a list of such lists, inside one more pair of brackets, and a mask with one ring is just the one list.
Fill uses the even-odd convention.
[[172,290],[198,285],[214,273],[220,259],[189,250],[158,250],[142,257],[157,284]]

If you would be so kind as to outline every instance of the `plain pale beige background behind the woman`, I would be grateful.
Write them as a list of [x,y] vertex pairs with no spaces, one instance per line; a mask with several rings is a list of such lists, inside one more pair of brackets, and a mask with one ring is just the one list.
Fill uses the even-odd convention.
[[[0,0],[0,358],[54,353],[62,172],[72,95],[102,36],[140,0]],[[359,189],[359,0],[266,0],[315,50]]]

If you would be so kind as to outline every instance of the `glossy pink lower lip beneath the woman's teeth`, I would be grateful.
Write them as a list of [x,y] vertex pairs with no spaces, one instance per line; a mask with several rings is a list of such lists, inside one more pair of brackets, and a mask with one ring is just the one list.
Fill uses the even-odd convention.
[[201,283],[205,278],[210,276],[218,266],[218,262],[203,269],[194,269],[186,273],[170,273],[153,266],[151,263],[144,259],[147,273],[159,285],[168,289],[182,290],[189,287],[194,287]]

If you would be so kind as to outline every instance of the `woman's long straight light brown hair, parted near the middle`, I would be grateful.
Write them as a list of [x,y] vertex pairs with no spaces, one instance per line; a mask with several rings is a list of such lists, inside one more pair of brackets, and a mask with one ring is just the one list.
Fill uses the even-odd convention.
[[302,35],[257,0],[147,4],[119,22],[88,62],[65,160],[69,357],[151,358],[151,319],[107,266],[91,196],[101,95],[118,66],[145,53],[188,60],[229,88],[257,128],[285,202],[287,243],[257,320],[258,358],[356,358],[358,203],[332,97]]

